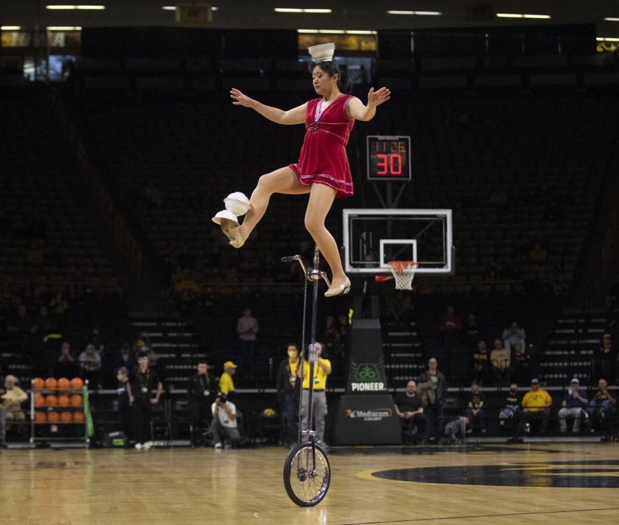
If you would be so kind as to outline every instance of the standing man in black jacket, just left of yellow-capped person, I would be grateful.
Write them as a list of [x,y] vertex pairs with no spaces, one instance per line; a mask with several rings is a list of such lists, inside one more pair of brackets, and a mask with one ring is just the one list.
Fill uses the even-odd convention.
[[217,394],[215,376],[208,372],[206,360],[197,362],[197,374],[189,378],[187,404],[191,417],[191,442],[194,447],[201,444],[204,430],[210,427],[213,414],[210,410]]

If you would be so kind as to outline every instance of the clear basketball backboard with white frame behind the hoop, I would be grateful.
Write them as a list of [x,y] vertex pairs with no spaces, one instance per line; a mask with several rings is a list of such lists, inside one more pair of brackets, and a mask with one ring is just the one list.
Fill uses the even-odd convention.
[[345,271],[390,273],[389,261],[417,261],[417,273],[453,271],[451,210],[345,209]]

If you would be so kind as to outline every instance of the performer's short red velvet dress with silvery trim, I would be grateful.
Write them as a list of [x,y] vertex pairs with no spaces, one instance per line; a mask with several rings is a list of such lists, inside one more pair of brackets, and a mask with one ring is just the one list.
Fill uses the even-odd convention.
[[355,119],[346,114],[351,95],[342,95],[321,114],[322,98],[307,103],[305,139],[298,162],[290,164],[298,180],[305,186],[326,184],[337,190],[336,199],[353,194],[346,144]]

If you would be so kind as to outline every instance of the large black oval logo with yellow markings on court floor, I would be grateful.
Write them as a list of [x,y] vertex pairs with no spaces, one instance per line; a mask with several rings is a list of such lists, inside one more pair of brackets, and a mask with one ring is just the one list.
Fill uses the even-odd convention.
[[371,475],[384,480],[417,483],[619,489],[619,460],[422,467],[377,471]]

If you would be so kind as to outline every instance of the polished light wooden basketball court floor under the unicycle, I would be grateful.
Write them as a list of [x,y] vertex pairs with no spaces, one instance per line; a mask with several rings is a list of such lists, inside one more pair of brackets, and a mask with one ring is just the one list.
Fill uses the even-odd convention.
[[316,507],[287,497],[286,451],[11,449],[3,524],[619,522],[619,447],[333,447]]

